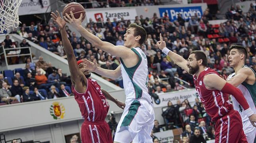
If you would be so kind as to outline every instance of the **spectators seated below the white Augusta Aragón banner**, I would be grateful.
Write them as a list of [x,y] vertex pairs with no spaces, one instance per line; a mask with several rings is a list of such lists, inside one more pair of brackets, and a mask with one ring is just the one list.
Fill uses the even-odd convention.
[[162,116],[165,119],[165,125],[160,126],[158,120],[154,121],[151,132],[153,141],[159,141],[154,133],[181,127],[184,127],[184,131],[180,135],[182,143],[206,143],[207,140],[215,137],[213,123],[198,98],[195,98],[195,103],[192,106],[187,99],[183,102],[177,100],[175,105],[169,101]]

